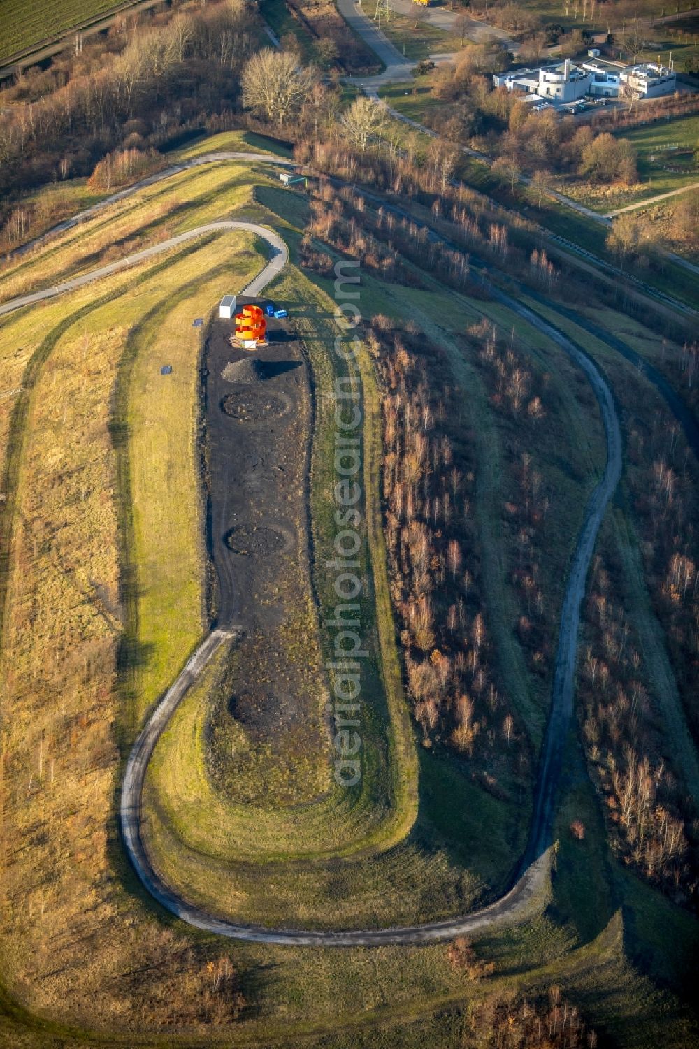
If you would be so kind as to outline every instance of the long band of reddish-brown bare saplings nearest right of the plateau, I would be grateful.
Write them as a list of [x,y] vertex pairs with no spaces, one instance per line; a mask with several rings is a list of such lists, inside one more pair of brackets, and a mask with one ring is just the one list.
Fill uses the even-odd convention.
[[473,518],[472,441],[440,349],[375,317],[367,346],[383,390],[383,497],[408,694],[425,746],[478,754],[497,790],[529,770],[526,734],[497,683]]

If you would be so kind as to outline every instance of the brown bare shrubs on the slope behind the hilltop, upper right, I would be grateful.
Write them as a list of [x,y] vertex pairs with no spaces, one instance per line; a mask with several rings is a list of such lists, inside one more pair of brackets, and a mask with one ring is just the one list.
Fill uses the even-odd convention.
[[[331,242],[352,254],[356,250],[353,237],[362,231],[379,275],[390,271],[391,259],[398,269],[398,253],[418,267],[426,265],[442,283],[474,298],[488,298],[489,293],[487,283],[469,265],[468,253],[506,267],[509,275],[534,286],[549,292],[565,290],[566,294],[577,288],[579,294],[579,284],[564,278],[526,219],[452,179],[457,154],[451,146],[436,138],[422,155],[417,142],[408,136],[404,147],[399,150],[389,143],[381,152],[367,150],[362,154],[337,134],[316,142],[303,137],[297,143],[297,159],[355,184],[353,190],[340,188],[331,177],[312,188],[315,221],[311,232],[326,240],[334,238]],[[370,192],[364,198],[357,184],[381,187],[397,207],[375,205]],[[414,205],[424,209],[426,220],[412,217],[417,211]],[[304,252],[306,259],[309,253],[314,254],[319,272],[327,272],[327,258],[322,259],[308,238]],[[417,275],[400,282],[415,279]]]

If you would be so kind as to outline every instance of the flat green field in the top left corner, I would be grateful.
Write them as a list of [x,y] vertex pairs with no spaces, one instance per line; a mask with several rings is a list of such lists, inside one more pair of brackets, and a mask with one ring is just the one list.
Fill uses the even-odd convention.
[[0,62],[119,6],[113,0],[58,0],[48,7],[41,0],[1,0]]

